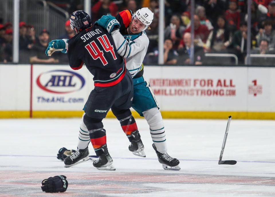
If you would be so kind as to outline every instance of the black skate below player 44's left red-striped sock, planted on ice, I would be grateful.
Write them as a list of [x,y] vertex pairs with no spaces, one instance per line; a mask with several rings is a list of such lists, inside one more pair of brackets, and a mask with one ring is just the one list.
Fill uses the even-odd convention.
[[108,152],[107,144],[102,145],[100,148],[103,154],[93,162],[93,166],[99,170],[115,170],[115,167],[112,165],[113,159]]

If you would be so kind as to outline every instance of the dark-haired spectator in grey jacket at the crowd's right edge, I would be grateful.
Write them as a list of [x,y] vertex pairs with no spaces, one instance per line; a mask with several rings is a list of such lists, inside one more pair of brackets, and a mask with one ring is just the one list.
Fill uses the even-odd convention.
[[265,39],[269,43],[268,48],[275,47],[275,30],[272,28],[272,21],[264,21],[264,29],[259,30],[259,33],[256,35],[256,39],[258,46],[260,46],[260,42]]

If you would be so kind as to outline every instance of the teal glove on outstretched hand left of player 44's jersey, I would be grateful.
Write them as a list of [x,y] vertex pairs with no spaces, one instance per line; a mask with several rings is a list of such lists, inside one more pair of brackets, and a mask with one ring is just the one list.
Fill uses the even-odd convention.
[[55,51],[67,53],[68,39],[52,40],[49,42],[48,48],[45,51],[47,56],[51,56]]

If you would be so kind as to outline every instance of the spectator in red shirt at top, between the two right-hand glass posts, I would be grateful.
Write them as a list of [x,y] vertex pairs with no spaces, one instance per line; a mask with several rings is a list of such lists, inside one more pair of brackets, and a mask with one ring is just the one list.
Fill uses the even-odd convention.
[[231,32],[240,27],[240,13],[237,11],[237,0],[229,1],[229,9],[225,11],[225,19]]

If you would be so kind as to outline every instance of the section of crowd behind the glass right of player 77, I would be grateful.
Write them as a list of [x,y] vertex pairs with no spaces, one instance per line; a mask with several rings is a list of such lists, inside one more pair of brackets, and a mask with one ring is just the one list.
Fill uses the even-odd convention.
[[[182,10],[173,10],[172,4]],[[195,4],[195,64],[209,63],[205,53],[234,54],[239,63],[243,64],[247,54],[247,1],[198,0]],[[251,11],[251,53],[275,54],[275,1],[253,0]],[[190,1],[166,1],[165,64],[190,64],[190,19]],[[149,38],[152,36],[149,31],[148,35]],[[155,35],[158,35],[158,32],[155,32]],[[149,64],[158,62],[157,58],[153,58],[158,56],[157,42],[154,37],[150,38],[150,41],[151,39],[154,40],[154,46],[148,48],[145,59]],[[171,42],[172,47],[168,47],[166,43]]]

